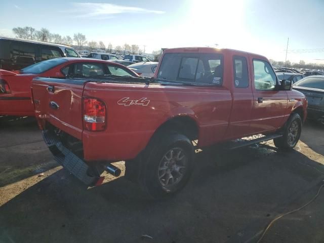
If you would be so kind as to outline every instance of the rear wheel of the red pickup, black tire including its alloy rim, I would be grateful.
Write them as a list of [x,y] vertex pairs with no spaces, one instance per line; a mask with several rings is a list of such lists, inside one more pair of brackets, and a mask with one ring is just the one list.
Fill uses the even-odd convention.
[[190,178],[193,160],[194,148],[186,136],[177,132],[159,133],[142,156],[139,184],[153,198],[179,192]]

